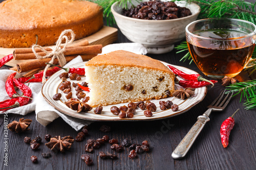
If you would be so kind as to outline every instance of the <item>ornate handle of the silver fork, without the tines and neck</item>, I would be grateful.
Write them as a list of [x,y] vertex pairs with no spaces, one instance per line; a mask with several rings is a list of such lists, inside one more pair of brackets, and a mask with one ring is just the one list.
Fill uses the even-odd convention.
[[201,115],[197,117],[197,122],[194,126],[188,131],[186,136],[181,140],[176,149],[174,150],[172,157],[174,159],[183,158],[188,150],[191,148],[192,144],[196,140],[199,133],[202,131],[206,122],[210,120],[210,118],[206,115]]

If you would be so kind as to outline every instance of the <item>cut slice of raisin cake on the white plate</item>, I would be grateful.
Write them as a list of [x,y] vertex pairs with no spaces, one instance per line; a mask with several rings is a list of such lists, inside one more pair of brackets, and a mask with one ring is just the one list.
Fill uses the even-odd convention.
[[91,106],[161,99],[172,96],[175,75],[144,55],[115,51],[85,64]]

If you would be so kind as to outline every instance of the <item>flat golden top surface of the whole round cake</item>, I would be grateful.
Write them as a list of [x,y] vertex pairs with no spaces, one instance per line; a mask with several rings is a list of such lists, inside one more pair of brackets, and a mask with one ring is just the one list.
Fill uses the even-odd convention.
[[0,4],[0,30],[72,26],[100,10],[95,3],[79,0],[8,0]]

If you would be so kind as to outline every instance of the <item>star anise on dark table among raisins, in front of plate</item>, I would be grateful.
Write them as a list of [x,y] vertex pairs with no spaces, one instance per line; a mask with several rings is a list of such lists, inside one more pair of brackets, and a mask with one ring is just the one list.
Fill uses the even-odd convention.
[[71,148],[74,139],[71,136],[65,136],[63,138],[52,137],[50,142],[46,143],[46,146],[50,148],[52,151],[60,151],[64,152],[65,150],[69,150]]

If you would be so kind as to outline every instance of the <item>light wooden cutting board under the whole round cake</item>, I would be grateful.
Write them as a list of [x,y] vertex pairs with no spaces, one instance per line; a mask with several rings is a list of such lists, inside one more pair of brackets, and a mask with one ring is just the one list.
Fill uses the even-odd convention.
[[[113,28],[113,27],[103,26],[103,28],[101,30],[94,33],[93,35],[90,35],[90,36],[88,36],[86,38],[83,38],[83,39],[76,40],[73,43],[82,41],[84,39],[87,39],[89,41],[90,45],[102,44],[102,46],[105,46],[105,45],[111,44],[111,43],[113,43],[117,40],[117,29]],[[15,48],[2,48],[2,47],[0,47],[0,59],[3,58],[4,56],[12,54],[14,49]],[[14,59],[12,59],[11,61],[6,63],[5,65],[14,67],[14,66],[16,66],[17,63],[26,62],[26,61],[28,61],[28,60],[14,60]]]

